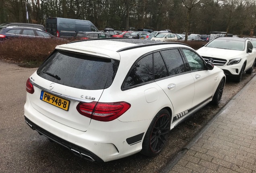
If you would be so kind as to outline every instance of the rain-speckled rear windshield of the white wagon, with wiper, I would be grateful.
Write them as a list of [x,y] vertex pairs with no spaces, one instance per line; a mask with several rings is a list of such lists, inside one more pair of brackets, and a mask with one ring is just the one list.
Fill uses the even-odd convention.
[[55,50],[37,74],[68,87],[98,90],[112,84],[118,66],[118,60]]

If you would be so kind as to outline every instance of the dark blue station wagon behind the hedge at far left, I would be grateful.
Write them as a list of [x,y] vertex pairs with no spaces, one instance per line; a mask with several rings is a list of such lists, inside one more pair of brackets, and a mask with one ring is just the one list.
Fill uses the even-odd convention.
[[17,37],[27,37],[27,38],[37,38],[37,39],[39,38],[58,39],[55,36],[37,28],[18,27],[18,26],[0,27],[0,40],[17,38]]

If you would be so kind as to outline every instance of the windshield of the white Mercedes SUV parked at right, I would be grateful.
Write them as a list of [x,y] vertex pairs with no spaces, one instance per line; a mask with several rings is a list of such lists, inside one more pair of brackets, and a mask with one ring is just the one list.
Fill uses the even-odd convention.
[[211,48],[222,48],[229,50],[244,50],[245,43],[242,40],[223,40],[223,39],[215,39],[209,44],[206,44],[206,47]]

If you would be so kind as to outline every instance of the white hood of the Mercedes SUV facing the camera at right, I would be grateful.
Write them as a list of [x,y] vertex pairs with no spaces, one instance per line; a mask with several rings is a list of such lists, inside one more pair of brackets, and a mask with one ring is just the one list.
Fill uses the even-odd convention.
[[210,48],[210,47],[202,47],[196,50],[196,52],[201,56],[208,56],[212,58],[222,58],[222,59],[242,58],[245,55],[245,52],[241,50],[228,50],[228,49]]

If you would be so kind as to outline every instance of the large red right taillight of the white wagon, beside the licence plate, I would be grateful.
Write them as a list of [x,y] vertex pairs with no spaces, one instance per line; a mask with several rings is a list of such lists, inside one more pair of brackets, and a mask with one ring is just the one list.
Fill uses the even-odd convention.
[[97,121],[112,121],[123,115],[130,107],[131,105],[127,102],[101,103],[93,101],[78,103],[76,110],[81,115]]

